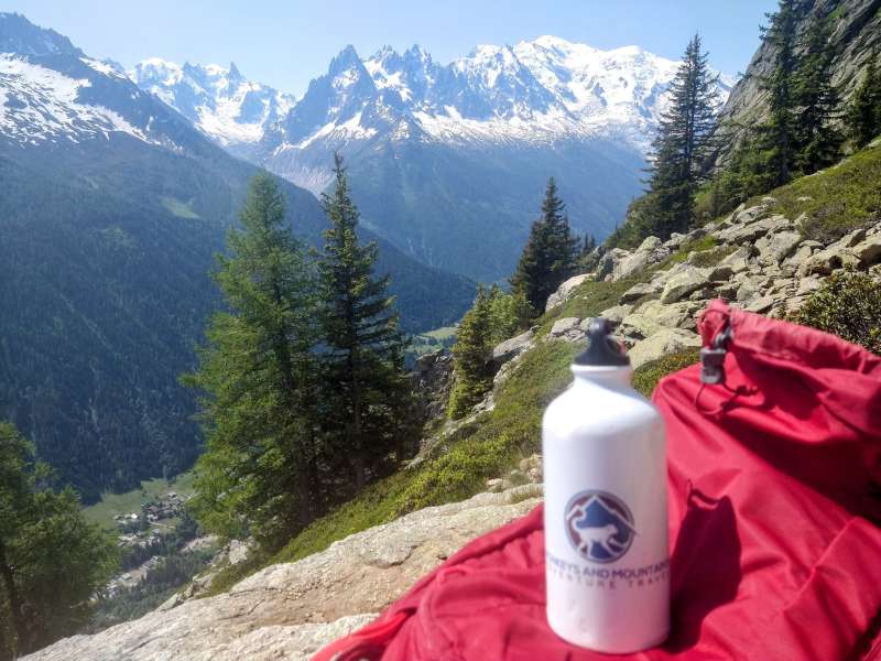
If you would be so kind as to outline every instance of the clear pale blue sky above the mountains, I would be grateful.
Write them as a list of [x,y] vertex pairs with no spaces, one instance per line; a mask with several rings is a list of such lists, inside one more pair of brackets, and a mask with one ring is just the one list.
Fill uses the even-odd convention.
[[776,0],[0,0],[96,57],[235,62],[249,78],[301,95],[346,44],[361,56],[413,43],[447,63],[477,44],[553,34],[600,48],[681,55],[695,31],[710,62],[742,72]]

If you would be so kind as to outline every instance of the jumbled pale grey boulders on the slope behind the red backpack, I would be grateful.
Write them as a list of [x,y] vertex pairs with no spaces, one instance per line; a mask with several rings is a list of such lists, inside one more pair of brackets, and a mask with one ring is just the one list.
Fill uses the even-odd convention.
[[[696,315],[710,299],[726,299],[749,312],[790,314],[830,273],[842,268],[866,270],[881,262],[881,223],[824,245],[804,239],[798,231],[802,219],[775,214],[775,199],[765,197],[689,235],[674,235],[665,242],[650,237],[632,253],[609,251],[614,258],[609,258],[612,267],[605,277],[598,271],[596,278],[645,278],[627,290],[617,305],[601,312],[628,347],[634,368],[699,347]],[[707,235],[714,248],[671,260],[676,263],[667,268],[657,266],[674,249],[687,250],[695,239]],[[633,263],[642,264],[641,270],[630,271],[627,264]],[[588,319],[559,318],[546,338],[581,342],[587,325]]]

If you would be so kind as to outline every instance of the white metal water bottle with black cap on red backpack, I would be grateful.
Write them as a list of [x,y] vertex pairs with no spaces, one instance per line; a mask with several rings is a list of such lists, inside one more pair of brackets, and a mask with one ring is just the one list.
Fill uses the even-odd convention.
[[575,381],[544,413],[547,621],[579,647],[628,653],[670,631],[666,444],[609,332],[591,321]]

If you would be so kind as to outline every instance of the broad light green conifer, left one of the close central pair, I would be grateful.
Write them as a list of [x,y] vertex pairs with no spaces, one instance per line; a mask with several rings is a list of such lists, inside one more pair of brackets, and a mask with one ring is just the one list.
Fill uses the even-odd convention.
[[199,368],[183,379],[204,393],[197,518],[269,548],[312,520],[318,491],[315,278],[284,214],[275,180],[258,174],[213,274],[228,311],[211,318]]

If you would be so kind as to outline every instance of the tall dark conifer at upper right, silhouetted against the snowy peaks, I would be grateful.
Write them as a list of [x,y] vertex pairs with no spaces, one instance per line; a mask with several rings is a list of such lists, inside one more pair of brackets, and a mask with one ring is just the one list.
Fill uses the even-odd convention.
[[659,124],[653,142],[649,181],[653,226],[661,238],[685,232],[694,220],[695,194],[704,180],[716,124],[716,78],[710,76],[707,54],[695,34],[671,85],[671,107]]

